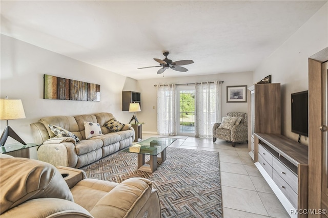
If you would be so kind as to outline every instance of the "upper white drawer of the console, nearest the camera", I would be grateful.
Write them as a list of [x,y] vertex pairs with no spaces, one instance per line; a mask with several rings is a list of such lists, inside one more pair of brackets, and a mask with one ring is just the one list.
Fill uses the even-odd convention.
[[298,178],[288,167],[283,165],[279,160],[273,158],[273,169],[280,175],[280,177],[289,184],[292,189],[297,193]]

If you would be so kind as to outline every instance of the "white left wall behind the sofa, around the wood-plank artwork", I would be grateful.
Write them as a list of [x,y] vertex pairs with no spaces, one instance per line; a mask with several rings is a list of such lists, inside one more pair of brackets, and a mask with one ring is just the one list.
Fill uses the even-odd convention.
[[[43,99],[44,74],[100,84],[100,102]],[[26,142],[34,142],[30,124],[42,117],[110,112],[121,122],[130,121],[130,113],[121,110],[121,91],[135,88],[136,80],[5,35],[1,35],[0,78],[0,97],[23,101],[26,119],[10,120],[9,125]],[[3,132],[6,121],[0,124]],[[30,150],[36,159],[35,150]]]

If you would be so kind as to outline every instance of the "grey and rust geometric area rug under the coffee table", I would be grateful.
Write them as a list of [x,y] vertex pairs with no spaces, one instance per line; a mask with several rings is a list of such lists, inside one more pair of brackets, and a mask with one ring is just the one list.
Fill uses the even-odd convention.
[[218,152],[168,147],[166,161],[151,173],[137,169],[137,154],[118,151],[81,169],[87,178],[117,183],[152,180],[162,217],[223,217]]

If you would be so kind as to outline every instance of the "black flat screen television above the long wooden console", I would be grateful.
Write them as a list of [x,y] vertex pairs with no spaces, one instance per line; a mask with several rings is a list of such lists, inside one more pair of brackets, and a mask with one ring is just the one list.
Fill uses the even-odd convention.
[[308,91],[291,94],[292,98],[292,132],[309,136]]

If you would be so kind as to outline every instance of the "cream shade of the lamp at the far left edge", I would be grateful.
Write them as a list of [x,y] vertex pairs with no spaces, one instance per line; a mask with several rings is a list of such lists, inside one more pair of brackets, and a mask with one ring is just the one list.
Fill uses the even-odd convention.
[[0,120],[26,118],[22,100],[0,99]]

